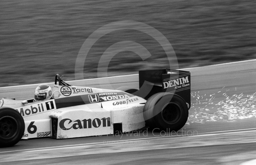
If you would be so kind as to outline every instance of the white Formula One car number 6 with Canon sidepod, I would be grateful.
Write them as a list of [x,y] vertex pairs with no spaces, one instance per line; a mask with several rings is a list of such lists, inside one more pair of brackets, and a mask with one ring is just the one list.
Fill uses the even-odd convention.
[[49,99],[0,100],[0,147],[20,139],[55,139],[130,132],[147,126],[181,129],[190,108],[190,73],[139,71],[140,90],[72,86],[55,76]]

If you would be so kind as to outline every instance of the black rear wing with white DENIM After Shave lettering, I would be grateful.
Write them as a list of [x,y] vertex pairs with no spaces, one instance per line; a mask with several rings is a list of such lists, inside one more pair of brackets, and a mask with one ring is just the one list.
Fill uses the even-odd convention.
[[190,72],[174,69],[140,70],[140,97],[148,99],[158,92],[179,95],[190,107]]

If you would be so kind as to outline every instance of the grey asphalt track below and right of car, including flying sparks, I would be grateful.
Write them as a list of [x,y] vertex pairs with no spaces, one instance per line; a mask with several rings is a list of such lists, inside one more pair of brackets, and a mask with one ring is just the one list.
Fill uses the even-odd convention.
[[123,135],[21,140],[0,149],[0,164],[241,164],[256,159],[256,60],[184,70],[191,72],[191,108],[180,132],[145,128]]

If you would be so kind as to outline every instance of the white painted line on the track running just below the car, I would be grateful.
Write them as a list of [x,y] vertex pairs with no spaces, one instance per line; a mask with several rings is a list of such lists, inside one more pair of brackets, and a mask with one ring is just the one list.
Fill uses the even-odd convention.
[[[229,130],[229,131],[216,131],[216,132],[209,132],[209,133],[197,133],[197,135],[193,135],[190,137],[214,136],[214,135],[231,134],[231,133],[250,133],[250,132],[256,132],[256,128],[238,129],[238,130]],[[3,152],[0,152],[0,154],[1,153],[18,152],[18,151],[33,151],[33,150],[64,148],[64,147],[78,147],[78,146],[95,145],[95,144],[118,143],[118,142],[126,142],[126,141],[149,140],[149,139],[160,139],[160,138],[170,138],[170,137],[184,137],[184,135],[160,136],[160,137],[131,139],[131,140],[117,140],[117,141],[84,143],[84,144],[74,144],[74,145],[55,146],[55,147],[31,148],[31,149],[22,149],[22,150],[13,150],[13,151],[3,151]]]

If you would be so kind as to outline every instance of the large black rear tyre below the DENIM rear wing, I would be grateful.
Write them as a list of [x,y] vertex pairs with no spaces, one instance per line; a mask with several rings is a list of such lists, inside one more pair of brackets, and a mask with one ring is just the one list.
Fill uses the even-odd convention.
[[143,117],[150,128],[177,131],[188,120],[188,106],[180,96],[160,92],[148,98]]

